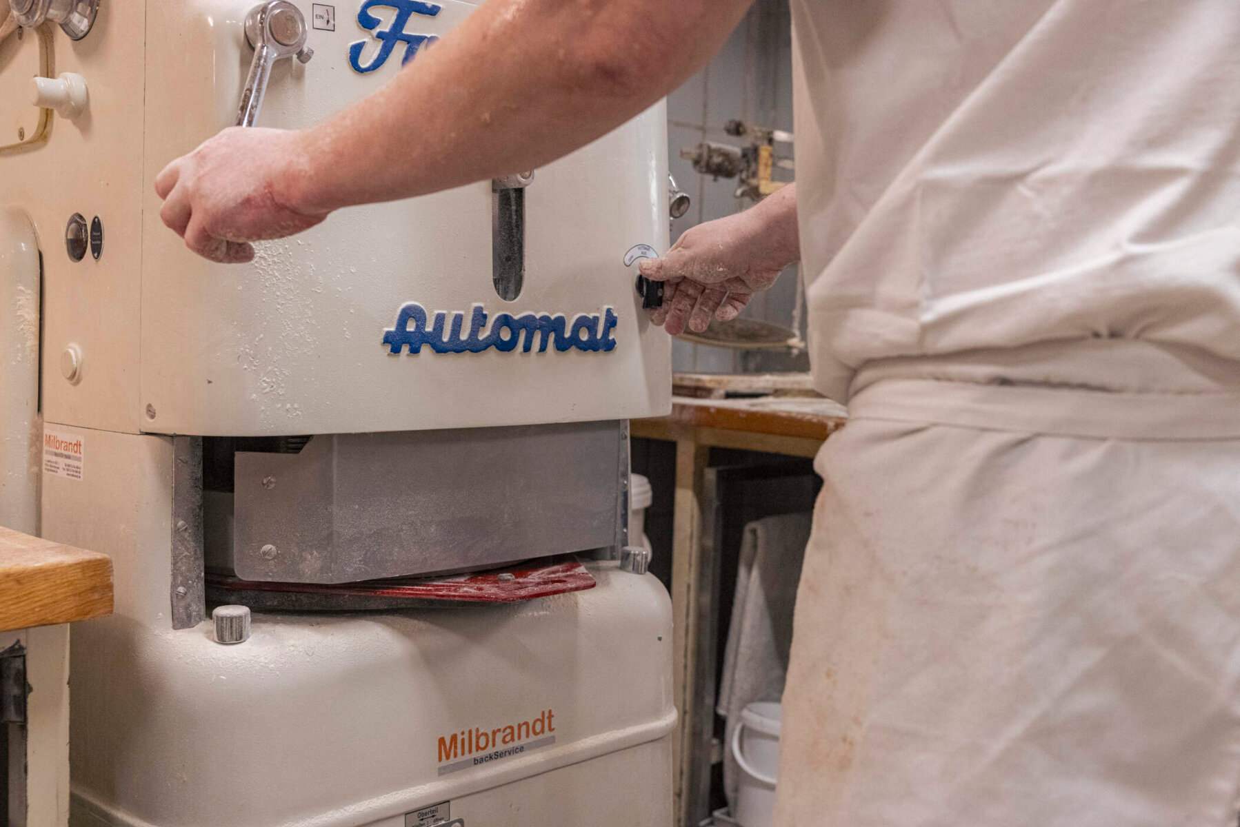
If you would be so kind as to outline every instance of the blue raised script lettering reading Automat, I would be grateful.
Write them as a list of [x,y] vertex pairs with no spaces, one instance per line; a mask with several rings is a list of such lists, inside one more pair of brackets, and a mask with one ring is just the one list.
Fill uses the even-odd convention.
[[405,303],[397,314],[396,325],[383,331],[383,343],[392,353],[408,347],[414,355],[422,353],[423,345],[435,353],[481,353],[491,348],[508,353],[520,345],[522,353],[529,353],[536,342],[539,353],[546,353],[548,346],[558,353],[570,350],[610,353],[616,347],[614,334],[620,321],[611,307],[578,314],[572,324],[564,314],[513,316],[501,312],[487,330],[486,310],[480,304],[469,312],[456,310],[450,315],[451,320],[446,311],[436,310],[432,316],[417,301]]

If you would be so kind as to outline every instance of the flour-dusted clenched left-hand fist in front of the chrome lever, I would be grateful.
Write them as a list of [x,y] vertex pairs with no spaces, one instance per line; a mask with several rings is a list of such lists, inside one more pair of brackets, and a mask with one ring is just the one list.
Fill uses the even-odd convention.
[[291,186],[306,174],[303,159],[299,133],[226,129],[155,177],[160,218],[198,255],[248,262],[249,242],[284,238],[326,218],[291,203]]

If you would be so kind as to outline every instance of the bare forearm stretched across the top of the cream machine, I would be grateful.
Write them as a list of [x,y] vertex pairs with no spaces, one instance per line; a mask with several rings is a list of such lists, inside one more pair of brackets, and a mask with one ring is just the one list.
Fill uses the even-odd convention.
[[370,98],[305,133],[286,193],[326,212],[533,169],[703,66],[751,0],[489,0]]

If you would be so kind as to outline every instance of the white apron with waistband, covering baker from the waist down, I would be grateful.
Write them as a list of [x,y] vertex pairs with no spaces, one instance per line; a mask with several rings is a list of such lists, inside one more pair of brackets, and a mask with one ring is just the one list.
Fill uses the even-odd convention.
[[777,827],[1236,825],[1240,366],[1053,351],[859,377]]

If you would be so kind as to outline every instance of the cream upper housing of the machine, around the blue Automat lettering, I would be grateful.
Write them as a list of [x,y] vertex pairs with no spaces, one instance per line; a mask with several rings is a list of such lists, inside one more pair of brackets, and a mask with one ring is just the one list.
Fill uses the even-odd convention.
[[[253,56],[243,31],[253,5],[110,4],[87,38],[55,50],[47,72],[83,78],[88,112],[72,122],[53,117],[46,144],[5,170],[5,195],[20,193],[51,248],[45,346],[57,357],[71,346],[81,355],[72,381],[58,358],[45,360],[48,422],[243,436],[585,422],[668,409],[668,338],[641,312],[635,273],[624,264],[632,245],[660,247],[667,237],[661,104],[534,171],[525,190],[526,275],[513,301],[492,283],[490,181],[340,211],[296,238],[259,244],[247,265],[191,254],[162,226],[151,181],[236,120]],[[308,63],[274,64],[257,125],[309,126],[391,79],[404,42],[365,73],[352,68],[350,51],[360,43],[361,64],[373,64],[377,35],[403,5],[325,6],[334,9],[334,31],[309,30]],[[312,6],[299,6],[311,25]],[[474,6],[441,0],[435,7],[434,16],[407,15],[405,32],[440,36]],[[381,22],[366,30],[360,14]],[[35,66],[40,43],[29,36],[7,48],[29,52],[20,62]],[[38,112],[27,83],[14,83],[15,112]],[[100,218],[98,260],[88,254],[74,263],[58,249],[74,212]],[[384,331],[407,304],[424,307],[432,326],[443,311],[445,337],[456,314],[467,337],[480,305],[487,320],[479,341],[500,314],[563,317],[570,331],[583,317],[601,327],[610,310],[614,346],[541,351],[538,342],[526,352],[522,341],[508,351],[424,346],[397,355]],[[579,340],[589,338],[578,330]]]

